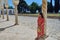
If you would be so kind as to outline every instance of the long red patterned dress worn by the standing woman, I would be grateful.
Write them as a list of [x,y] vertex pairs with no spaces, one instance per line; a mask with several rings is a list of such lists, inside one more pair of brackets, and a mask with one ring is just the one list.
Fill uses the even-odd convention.
[[38,27],[37,27],[37,37],[41,37],[44,35],[44,18],[38,17]]

